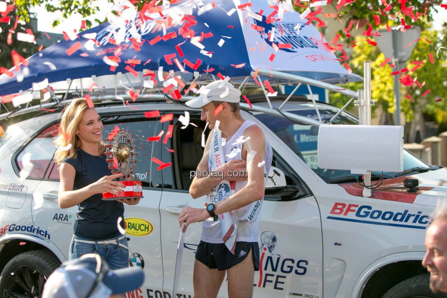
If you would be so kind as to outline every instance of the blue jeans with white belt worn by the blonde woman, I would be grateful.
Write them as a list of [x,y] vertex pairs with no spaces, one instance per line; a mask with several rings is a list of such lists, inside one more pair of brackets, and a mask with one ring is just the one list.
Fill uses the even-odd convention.
[[[76,240],[89,241],[91,243],[80,242]],[[108,241],[109,243],[105,243]],[[118,236],[117,238],[102,240],[83,239],[73,235],[70,244],[69,259],[76,259],[87,253],[97,253],[109,264],[110,269],[120,269],[129,266],[129,250],[122,245],[128,247],[126,236]],[[119,245],[121,243],[122,245]]]

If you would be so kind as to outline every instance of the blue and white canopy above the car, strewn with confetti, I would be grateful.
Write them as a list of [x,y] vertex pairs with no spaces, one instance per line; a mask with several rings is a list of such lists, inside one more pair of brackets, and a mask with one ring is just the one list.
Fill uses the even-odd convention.
[[[290,1],[176,2],[149,4],[140,12],[121,8],[120,17],[110,14],[108,23],[77,36],[68,33],[72,40],[26,59],[26,67],[10,70],[12,77],[11,73],[1,75],[0,95],[20,92],[22,99],[16,104],[26,103],[16,112],[20,114],[33,109],[27,101],[33,92],[34,97],[42,98],[42,88],[48,90],[42,98],[44,108],[45,101],[54,105],[54,101],[61,103],[87,92],[93,101],[130,99],[129,89],[135,99],[166,87],[166,94],[157,92],[157,96],[178,99],[182,91],[179,76],[186,85],[228,76],[240,88],[260,86],[267,101],[266,80],[272,86],[296,83],[294,92],[307,84],[309,91],[314,85],[345,94],[350,102],[358,98],[357,92],[332,84],[362,78],[340,65],[322,35],[301,19]],[[93,83],[107,88],[94,88]],[[13,97],[2,97],[2,101],[4,98]]]

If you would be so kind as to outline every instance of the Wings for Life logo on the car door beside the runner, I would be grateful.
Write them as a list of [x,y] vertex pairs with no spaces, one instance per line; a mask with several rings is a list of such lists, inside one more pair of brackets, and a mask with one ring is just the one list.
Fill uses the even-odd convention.
[[[253,286],[284,290],[283,285],[289,274],[304,275],[308,260],[295,260],[274,253],[278,246],[278,237],[272,231],[261,233],[261,260],[259,262],[259,281]],[[281,274],[278,274],[281,273]]]

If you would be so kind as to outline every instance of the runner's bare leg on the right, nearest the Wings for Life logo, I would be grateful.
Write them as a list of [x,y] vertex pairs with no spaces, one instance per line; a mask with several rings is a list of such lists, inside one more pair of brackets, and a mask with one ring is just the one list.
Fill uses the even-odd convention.
[[228,298],[253,297],[253,248],[245,260],[227,270],[227,276]]

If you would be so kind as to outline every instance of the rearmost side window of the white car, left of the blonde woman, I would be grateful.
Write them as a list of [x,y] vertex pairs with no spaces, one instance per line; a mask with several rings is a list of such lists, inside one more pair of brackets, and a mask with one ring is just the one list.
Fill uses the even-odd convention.
[[31,140],[17,155],[16,164],[19,171],[25,168],[25,154],[31,154],[30,162],[33,164],[28,178],[42,179],[50,164],[56,148],[54,140],[58,135],[59,123],[47,127],[36,138]]

